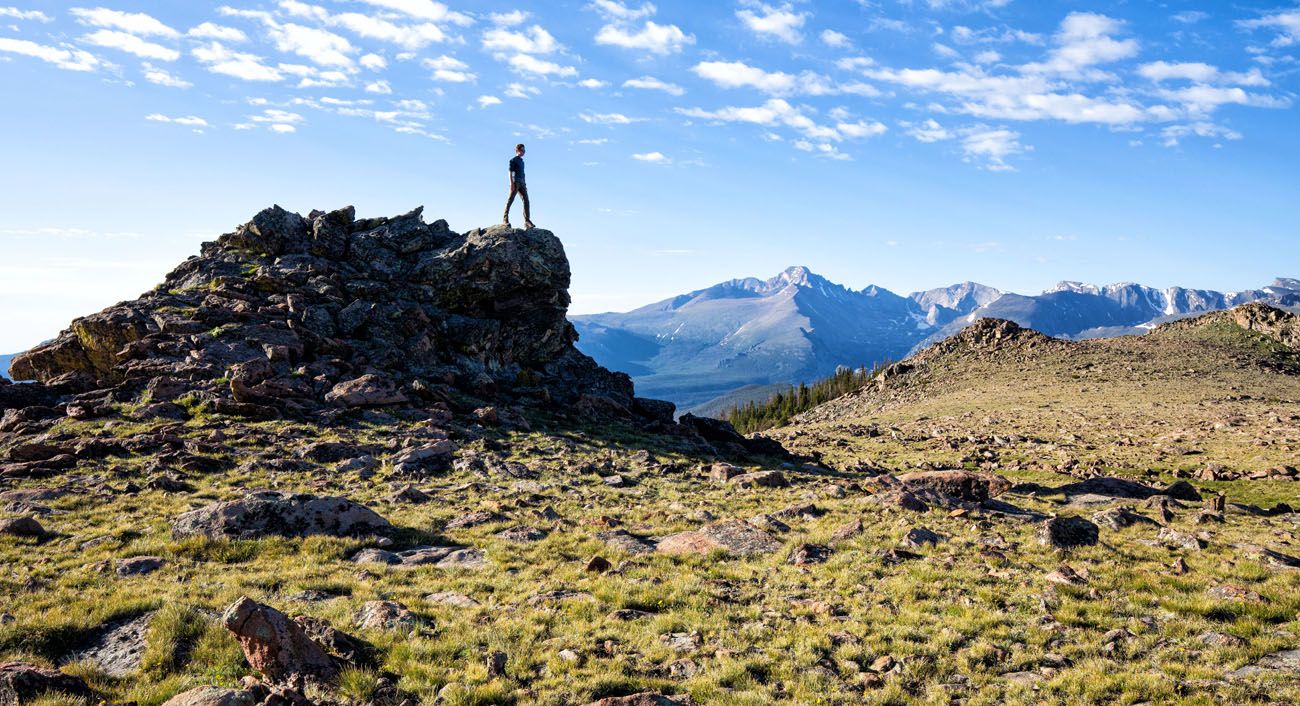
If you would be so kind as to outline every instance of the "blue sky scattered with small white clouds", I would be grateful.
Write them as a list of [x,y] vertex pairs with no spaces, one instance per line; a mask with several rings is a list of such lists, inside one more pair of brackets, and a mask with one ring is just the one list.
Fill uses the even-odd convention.
[[1295,3],[103,3],[0,0],[0,351],[272,203],[493,224],[515,142],[575,312],[1300,276]]

